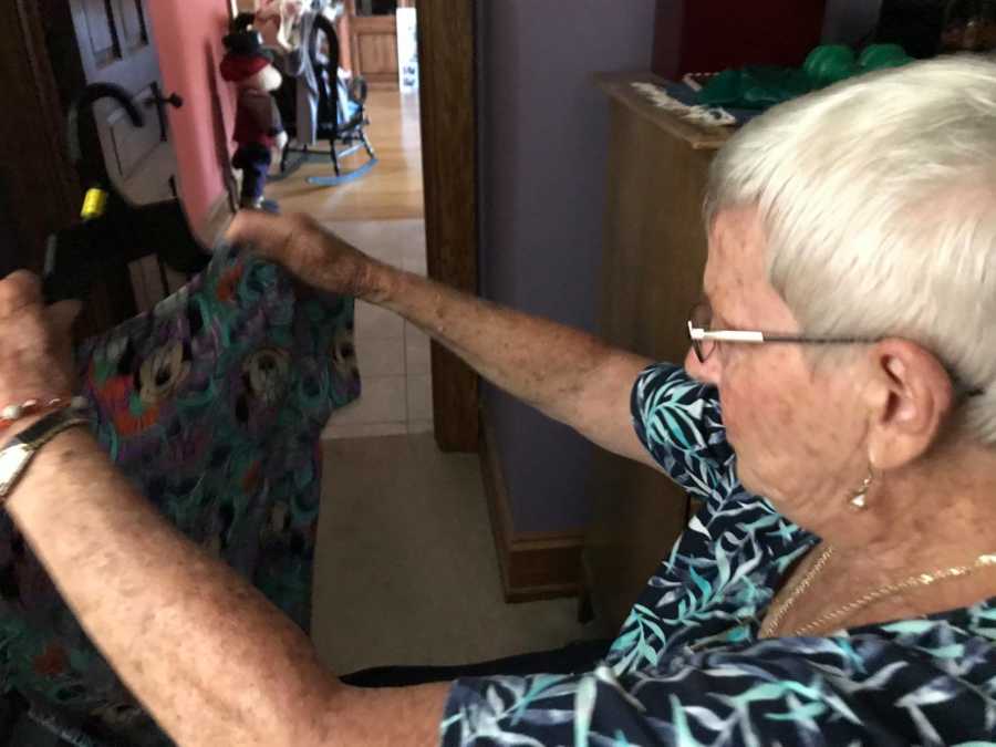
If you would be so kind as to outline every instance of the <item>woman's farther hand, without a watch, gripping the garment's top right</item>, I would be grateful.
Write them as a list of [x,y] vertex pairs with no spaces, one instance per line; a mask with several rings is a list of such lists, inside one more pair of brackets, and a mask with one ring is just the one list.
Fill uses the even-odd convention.
[[300,280],[332,293],[370,299],[386,266],[322,228],[314,219],[239,212],[225,239],[282,264]]

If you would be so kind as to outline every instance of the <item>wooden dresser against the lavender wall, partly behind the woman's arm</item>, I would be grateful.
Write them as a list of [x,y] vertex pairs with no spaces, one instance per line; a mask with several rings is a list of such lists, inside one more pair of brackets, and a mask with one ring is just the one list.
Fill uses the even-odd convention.
[[[681,362],[686,320],[706,260],[702,221],[709,163],[729,137],[654,106],[633,89],[652,74],[599,74],[611,110],[601,335],[655,360]],[[606,635],[623,622],[688,518],[688,499],[662,474],[599,452],[584,574]]]

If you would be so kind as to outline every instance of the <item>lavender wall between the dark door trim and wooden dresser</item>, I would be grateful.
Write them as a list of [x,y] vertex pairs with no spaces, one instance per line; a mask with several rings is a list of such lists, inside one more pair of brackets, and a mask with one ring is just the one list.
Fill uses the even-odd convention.
[[[593,330],[599,308],[608,104],[596,71],[647,70],[654,0],[478,0],[481,288]],[[590,447],[494,388],[518,532],[581,528]]]

